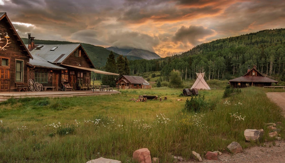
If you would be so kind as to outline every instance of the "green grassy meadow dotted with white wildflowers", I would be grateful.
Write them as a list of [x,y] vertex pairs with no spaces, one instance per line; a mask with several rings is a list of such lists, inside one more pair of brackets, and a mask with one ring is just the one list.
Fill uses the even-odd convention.
[[[187,159],[192,150],[202,156],[203,151],[223,152],[232,141],[248,147],[255,143],[245,142],[245,129],[264,129],[264,141],[270,140],[264,123],[285,123],[266,91],[272,89],[250,87],[227,99],[219,87],[199,91],[217,103],[213,111],[200,113],[183,111],[187,97],[167,87],[108,96],[11,99],[0,103],[0,162],[77,163],[98,157],[132,162],[135,150],[148,148],[152,157],[170,163],[171,155]],[[129,101],[143,94],[167,100]]]

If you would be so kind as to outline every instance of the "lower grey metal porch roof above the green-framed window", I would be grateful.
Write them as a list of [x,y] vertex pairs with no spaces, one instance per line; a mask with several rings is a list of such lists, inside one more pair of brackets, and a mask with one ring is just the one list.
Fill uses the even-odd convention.
[[44,67],[44,68],[50,68],[50,69],[60,69],[60,70],[66,70],[66,68],[60,67],[60,66],[56,66],[50,62],[48,62],[47,60],[45,60],[44,58],[33,54],[31,52],[31,55],[34,59],[30,59],[29,62],[27,62],[28,64],[32,65],[32,66],[36,66],[36,67]]

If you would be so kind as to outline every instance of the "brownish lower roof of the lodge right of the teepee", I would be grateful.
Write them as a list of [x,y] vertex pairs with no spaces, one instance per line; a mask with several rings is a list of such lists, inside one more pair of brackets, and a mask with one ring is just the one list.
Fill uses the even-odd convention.
[[278,81],[267,78],[265,76],[241,76],[239,78],[235,78],[229,80],[230,82],[261,82],[261,83],[278,83]]

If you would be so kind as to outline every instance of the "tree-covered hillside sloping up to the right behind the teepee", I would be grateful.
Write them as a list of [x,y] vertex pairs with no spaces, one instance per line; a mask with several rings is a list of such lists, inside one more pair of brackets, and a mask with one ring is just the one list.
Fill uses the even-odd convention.
[[206,79],[231,79],[256,65],[267,76],[283,76],[285,70],[285,28],[262,30],[241,36],[200,44],[191,50],[156,60],[130,62],[131,72],[161,71],[163,80],[175,69],[183,79],[196,78],[206,72]]

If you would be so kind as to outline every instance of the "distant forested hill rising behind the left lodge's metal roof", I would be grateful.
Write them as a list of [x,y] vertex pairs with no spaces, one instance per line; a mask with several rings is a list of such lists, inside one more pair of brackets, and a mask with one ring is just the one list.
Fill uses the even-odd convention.
[[[28,44],[27,38],[22,38],[24,44]],[[87,52],[89,58],[93,62],[94,66],[96,68],[101,68],[102,66],[105,66],[107,62],[107,58],[110,54],[110,50],[107,50],[106,48],[102,46],[95,46],[91,44],[85,44],[81,42],[69,42],[69,41],[52,41],[52,40],[34,40],[35,44],[82,44],[84,50]],[[119,56],[119,54],[115,53],[115,58]],[[141,59],[139,57],[135,56],[127,56],[128,60],[136,60]]]

